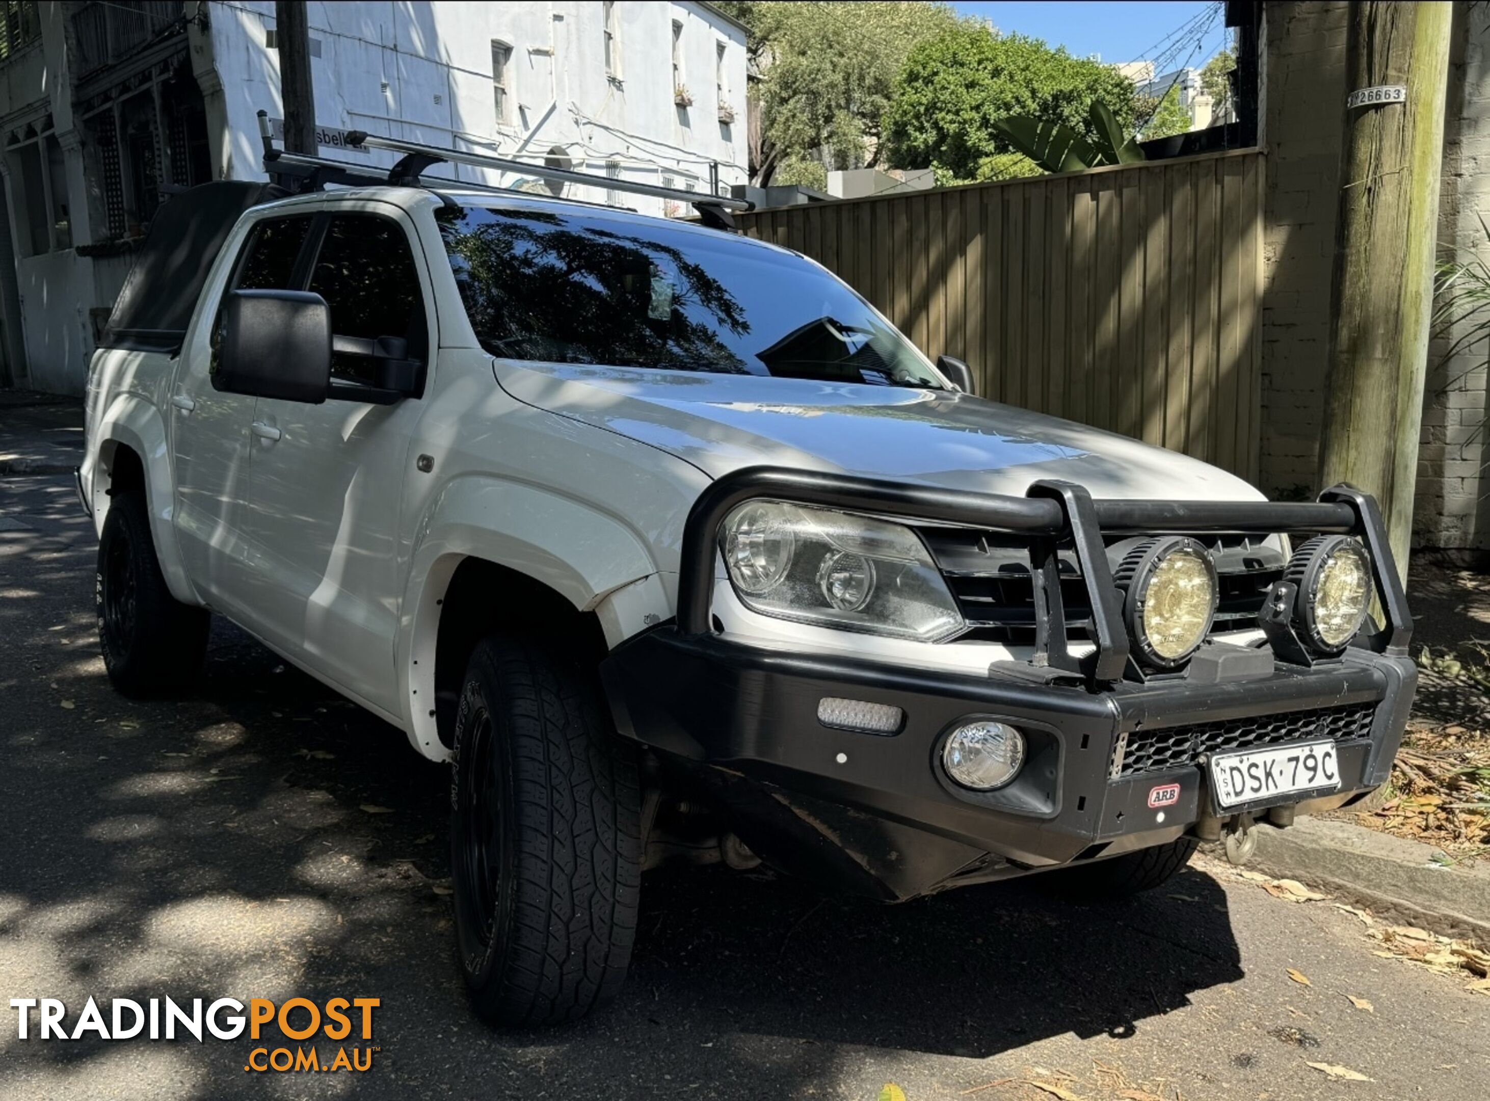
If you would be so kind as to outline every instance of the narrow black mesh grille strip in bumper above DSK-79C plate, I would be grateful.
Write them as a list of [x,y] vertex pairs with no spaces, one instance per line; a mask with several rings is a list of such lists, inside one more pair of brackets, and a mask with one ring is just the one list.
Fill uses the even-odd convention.
[[1168,730],[1134,730],[1126,736],[1119,734],[1112,775],[1118,779],[1183,769],[1198,764],[1201,754],[1246,749],[1250,745],[1283,745],[1310,737],[1332,737],[1337,742],[1369,737],[1374,714],[1374,703],[1353,703],[1347,708],[1252,715]]

